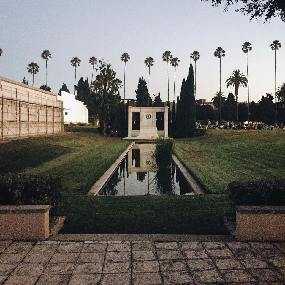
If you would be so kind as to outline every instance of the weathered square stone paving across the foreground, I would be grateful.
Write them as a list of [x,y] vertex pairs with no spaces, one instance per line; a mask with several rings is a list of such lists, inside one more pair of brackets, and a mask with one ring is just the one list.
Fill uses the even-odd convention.
[[0,241],[0,284],[285,284],[285,243]]

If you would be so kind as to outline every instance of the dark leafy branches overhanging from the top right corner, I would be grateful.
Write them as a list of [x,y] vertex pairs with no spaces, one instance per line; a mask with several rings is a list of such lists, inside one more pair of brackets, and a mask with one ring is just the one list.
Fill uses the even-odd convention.
[[[209,0],[203,0],[209,1]],[[235,12],[241,12],[243,15],[251,15],[250,20],[260,18],[265,15],[264,23],[270,21],[272,17],[280,17],[285,23],[285,4],[284,0],[212,0],[212,6],[218,7],[222,1],[225,1],[224,12],[234,3],[242,3],[244,7],[236,9]]]

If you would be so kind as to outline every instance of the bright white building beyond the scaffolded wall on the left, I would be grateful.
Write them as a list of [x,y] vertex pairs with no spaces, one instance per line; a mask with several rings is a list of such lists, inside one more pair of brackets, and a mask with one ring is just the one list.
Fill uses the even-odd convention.
[[63,101],[64,122],[68,123],[88,123],[88,110],[84,102],[75,100],[74,95],[61,91],[58,100]]

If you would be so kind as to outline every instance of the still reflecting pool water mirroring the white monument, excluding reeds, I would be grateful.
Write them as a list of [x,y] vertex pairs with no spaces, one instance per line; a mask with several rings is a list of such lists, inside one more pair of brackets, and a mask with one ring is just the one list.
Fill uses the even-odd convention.
[[178,167],[157,168],[153,145],[134,145],[99,195],[193,195]]

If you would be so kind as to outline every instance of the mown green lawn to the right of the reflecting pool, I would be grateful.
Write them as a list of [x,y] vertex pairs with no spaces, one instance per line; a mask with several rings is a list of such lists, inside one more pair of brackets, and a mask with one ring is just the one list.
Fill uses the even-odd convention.
[[234,180],[284,178],[284,130],[214,129],[175,140],[175,145],[177,156],[207,193],[223,193]]

